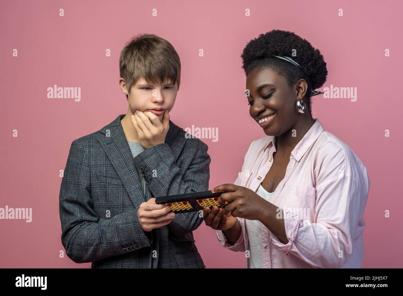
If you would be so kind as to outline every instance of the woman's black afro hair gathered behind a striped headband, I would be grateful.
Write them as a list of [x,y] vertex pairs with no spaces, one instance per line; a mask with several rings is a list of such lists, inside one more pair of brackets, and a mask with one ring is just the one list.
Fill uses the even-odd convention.
[[[274,55],[288,56],[300,67]],[[241,58],[246,76],[256,68],[271,68],[285,77],[290,87],[299,79],[304,79],[308,89],[303,99],[308,102],[312,114],[311,90],[322,87],[328,72],[322,54],[309,41],[290,31],[272,30],[249,41]]]

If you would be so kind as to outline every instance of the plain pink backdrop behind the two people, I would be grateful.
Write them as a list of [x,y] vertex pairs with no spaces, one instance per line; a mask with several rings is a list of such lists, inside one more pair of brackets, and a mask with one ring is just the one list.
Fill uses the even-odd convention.
[[[357,87],[355,102],[314,97],[313,117],[368,169],[363,267],[403,267],[401,6],[400,1],[2,1],[0,207],[31,207],[33,221],[0,220],[0,267],[91,266],[59,258],[64,250],[59,170],[73,140],[126,114],[118,60],[138,33],[167,39],[181,58],[171,120],[183,128],[218,127],[218,142],[203,139],[212,158],[210,189],[234,182],[249,144],[265,136],[248,114],[240,54],[250,39],[272,29],[293,31],[320,49],[329,72],[324,87]],[[105,56],[107,48],[111,57]],[[198,56],[200,48],[204,57]],[[47,88],[54,84],[81,87],[81,101],[48,99]],[[244,253],[223,248],[204,223],[194,237],[206,267],[246,266]]]

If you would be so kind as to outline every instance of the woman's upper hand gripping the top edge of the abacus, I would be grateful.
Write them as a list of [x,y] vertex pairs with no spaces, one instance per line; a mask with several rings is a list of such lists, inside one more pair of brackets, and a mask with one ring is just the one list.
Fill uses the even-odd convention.
[[224,214],[227,216],[262,221],[262,214],[270,205],[251,189],[234,184],[222,184],[211,191],[224,192],[220,195],[218,203],[222,207],[226,201],[229,202],[224,207]]

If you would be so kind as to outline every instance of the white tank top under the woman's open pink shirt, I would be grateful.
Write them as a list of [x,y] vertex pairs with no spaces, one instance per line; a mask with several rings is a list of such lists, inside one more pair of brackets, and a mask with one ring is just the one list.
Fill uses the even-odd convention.
[[[274,192],[267,192],[260,184],[256,193],[269,201]],[[249,258],[246,258],[247,267],[262,268],[262,222],[245,219],[245,229],[249,240]]]

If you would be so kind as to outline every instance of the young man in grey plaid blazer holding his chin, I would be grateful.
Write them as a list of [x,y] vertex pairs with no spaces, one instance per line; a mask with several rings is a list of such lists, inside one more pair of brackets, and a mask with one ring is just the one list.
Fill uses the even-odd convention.
[[62,244],[92,268],[206,267],[192,231],[198,212],[169,213],[155,197],[208,190],[210,156],[170,121],[181,63],[156,35],[134,37],[120,54],[129,108],[71,144],[60,186]]

